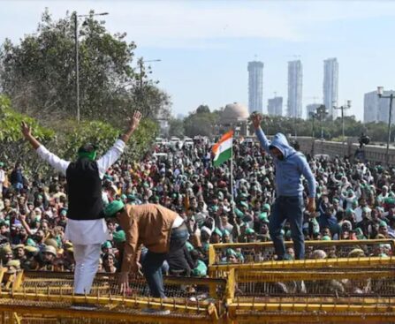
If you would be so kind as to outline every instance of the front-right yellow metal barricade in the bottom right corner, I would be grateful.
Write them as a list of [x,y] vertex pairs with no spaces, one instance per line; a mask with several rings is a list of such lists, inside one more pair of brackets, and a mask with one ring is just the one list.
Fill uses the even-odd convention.
[[395,267],[377,266],[232,268],[226,290],[229,319],[249,324],[395,322]]

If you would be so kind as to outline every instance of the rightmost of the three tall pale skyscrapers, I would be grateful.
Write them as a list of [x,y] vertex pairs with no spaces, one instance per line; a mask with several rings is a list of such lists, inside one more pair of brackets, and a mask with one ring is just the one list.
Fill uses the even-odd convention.
[[336,57],[323,61],[323,104],[328,109],[329,116],[338,117],[338,110],[333,108],[338,104],[338,60]]

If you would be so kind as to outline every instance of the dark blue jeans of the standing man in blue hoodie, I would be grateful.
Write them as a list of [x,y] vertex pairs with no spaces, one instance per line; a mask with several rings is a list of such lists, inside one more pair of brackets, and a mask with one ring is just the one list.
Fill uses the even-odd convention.
[[276,199],[270,215],[269,231],[278,260],[284,260],[285,244],[281,230],[290,222],[295,259],[305,258],[305,237],[303,235],[303,198],[301,196]]

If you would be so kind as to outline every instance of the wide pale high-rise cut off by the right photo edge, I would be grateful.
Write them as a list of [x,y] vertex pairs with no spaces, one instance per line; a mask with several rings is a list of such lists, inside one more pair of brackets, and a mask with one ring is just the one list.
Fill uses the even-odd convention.
[[[384,91],[384,95],[395,94],[395,91]],[[369,92],[363,98],[363,122],[388,123],[390,114],[390,98],[380,98],[376,91]],[[392,109],[391,124],[395,124],[395,111]]]

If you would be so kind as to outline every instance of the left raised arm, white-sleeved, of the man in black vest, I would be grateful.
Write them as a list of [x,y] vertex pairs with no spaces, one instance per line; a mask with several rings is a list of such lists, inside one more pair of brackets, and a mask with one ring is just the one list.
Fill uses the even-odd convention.
[[50,153],[49,150],[32,135],[30,126],[27,123],[22,122],[21,131],[25,139],[27,139],[42,160],[48,162],[51,167],[65,175],[65,171],[70,162],[59,158],[56,154]]

